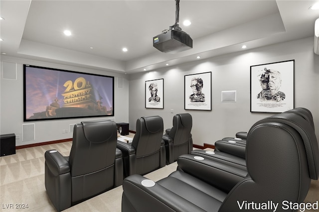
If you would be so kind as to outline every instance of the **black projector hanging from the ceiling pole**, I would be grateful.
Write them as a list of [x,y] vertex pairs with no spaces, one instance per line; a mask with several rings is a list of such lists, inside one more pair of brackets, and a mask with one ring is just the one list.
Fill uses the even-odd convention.
[[169,29],[153,37],[153,46],[164,53],[177,53],[193,48],[193,40],[186,32]]

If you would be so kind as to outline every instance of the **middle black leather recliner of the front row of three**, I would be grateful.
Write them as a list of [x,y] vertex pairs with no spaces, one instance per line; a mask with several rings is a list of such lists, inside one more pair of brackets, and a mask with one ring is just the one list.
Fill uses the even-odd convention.
[[132,143],[118,141],[123,153],[124,175],[145,175],[165,166],[165,143],[162,140],[163,119],[146,116],[137,119]]

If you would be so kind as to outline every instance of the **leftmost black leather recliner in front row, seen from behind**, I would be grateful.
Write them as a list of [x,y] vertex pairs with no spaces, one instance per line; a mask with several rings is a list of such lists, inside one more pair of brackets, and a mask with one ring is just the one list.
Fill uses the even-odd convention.
[[115,122],[83,121],[74,125],[69,157],[45,152],[45,189],[57,211],[122,185],[122,152],[116,143]]

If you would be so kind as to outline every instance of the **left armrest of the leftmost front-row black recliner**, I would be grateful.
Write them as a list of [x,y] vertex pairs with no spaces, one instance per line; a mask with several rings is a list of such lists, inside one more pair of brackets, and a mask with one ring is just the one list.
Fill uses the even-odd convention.
[[44,153],[45,163],[54,176],[71,171],[69,161],[57,150],[48,150]]

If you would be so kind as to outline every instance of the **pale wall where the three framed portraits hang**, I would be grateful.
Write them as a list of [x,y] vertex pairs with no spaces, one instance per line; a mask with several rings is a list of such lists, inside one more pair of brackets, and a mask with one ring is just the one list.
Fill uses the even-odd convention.
[[[139,117],[148,115],[160,115],[164,128],[170,128],[174,114],[189,112],[197,145],[248,131],[256,121],[273,114],[250,112],[250,66],[287,60],[295,60],[295,107],[312,111],[319,137],[319,55],[314,54],[313,37],[131,75],[130,129],[135,129]],[[212,72],[212,110],[185,110],[184,75],[203,72]],[[145,81],[161,78],[164,108],[145,108]],[[221,91],[237,91],[237,102],[221,103]]]

